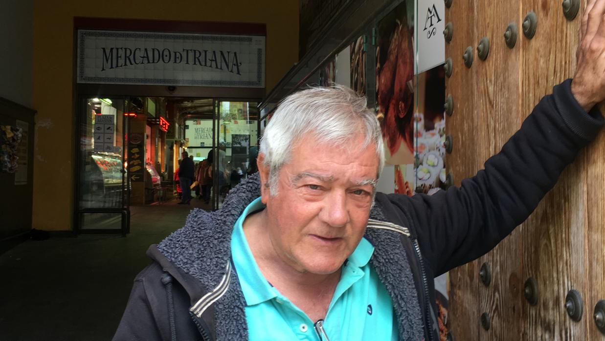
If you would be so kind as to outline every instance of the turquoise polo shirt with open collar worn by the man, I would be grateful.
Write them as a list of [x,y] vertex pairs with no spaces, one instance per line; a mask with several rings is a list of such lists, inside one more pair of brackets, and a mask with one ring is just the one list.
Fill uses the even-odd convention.
[[[231,255],[246,299],[249,339],[325,341],[315,322],[287,297],[272,287],[258,268],[244,235],[246,216],[264,209],[260,198],[250,203],[235,222]],[[323,328],[330,341],[397,340],[393,302],[371,268],[374,247],[365,238],[342,265],[341,279],[324,318]]]

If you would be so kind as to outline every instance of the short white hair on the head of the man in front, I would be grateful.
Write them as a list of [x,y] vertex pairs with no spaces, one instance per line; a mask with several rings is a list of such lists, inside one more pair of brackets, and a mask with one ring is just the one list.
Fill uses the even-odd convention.
[[290,160],[295,143],[313,136],[316,143],[331,143],[350,148],[350,142],[364,137],[364,149],[376,146],[378,174],[384,167],[384,151],[380,124],[367,100],[350,88],[340,85],[312,87],[286,97],[275,110],[260,143],[263,164],[269,167],[271,195],[277,194],[280,169]]

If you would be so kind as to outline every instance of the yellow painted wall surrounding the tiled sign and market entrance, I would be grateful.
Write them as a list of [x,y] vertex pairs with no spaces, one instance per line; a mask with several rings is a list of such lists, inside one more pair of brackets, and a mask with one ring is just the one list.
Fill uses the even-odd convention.
[[295,0],[35,0],[33,108],[38,110],[38,115],[34,146],[34,229],[72,229],[74,16],[264,23],[267,25],[267,90],[298,60],[298,1]]

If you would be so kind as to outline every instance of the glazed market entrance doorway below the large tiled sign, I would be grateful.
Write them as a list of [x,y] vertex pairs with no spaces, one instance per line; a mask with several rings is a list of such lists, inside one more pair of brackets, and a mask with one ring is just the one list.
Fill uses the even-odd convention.
[[[198,166],[191,207],[218,209],[229,189],[256,172],[256,102],[83,96],[78,112],[74,222],[79,233],[125,235],[131,206],[183,201],[177,175],[183,151]],[[198,172],[204,163],[211,167]]]

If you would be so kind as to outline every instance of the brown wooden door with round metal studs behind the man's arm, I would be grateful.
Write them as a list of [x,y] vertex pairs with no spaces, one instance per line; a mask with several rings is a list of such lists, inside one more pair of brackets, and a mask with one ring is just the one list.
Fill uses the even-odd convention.
[[[586,1],[571,21],[554,0],[451,2],[445,18],[454,33],[445,51],[453,62],[446,96],[454,99],[447,122],[454,148],[447,164],[460,186],[502,148],[541,97],[574,75]],[[538,19],[532,39],[522,28],[529,11]],[[513,48],[504,38],[511,22],[518,27]],[[486,60],[477,56],[482,37],[490,43]],[[469,46],[474,62],[467,68],[462,54]],[[604,186],[605,137],[600,134],[522,226],[488,255],[451,271],[448,320],[456,340],[605,340],[593,319],[595,305],[605,299]],[[479,276],[485,262],[491,267],[489,285]],[[530,277],[537,282],[537,305],[525,298]],[[571,289],[584,301],[579,322],[565,309]],[[489,314],[488,330],[483,313]]]

